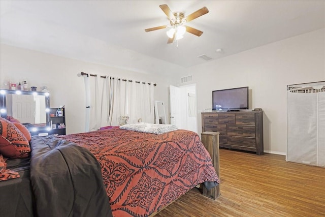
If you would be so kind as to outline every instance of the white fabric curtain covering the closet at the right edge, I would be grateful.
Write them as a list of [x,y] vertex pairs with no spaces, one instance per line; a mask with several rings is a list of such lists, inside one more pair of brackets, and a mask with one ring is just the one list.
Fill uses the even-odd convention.
[[325,92],[288,91],[286,160],[325,167],[324,132]]

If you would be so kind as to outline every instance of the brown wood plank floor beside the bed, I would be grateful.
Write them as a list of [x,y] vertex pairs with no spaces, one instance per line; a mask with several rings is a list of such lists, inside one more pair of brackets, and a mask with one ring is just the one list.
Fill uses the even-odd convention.
[[220,149],[221,196],[192,189],[155,217],[325,216],[325,168]]

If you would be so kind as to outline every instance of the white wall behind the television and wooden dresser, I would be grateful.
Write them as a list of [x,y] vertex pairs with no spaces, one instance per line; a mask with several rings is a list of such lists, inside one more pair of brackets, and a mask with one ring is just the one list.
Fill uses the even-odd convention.
[[286,85],[325,80],[325,29],[208,61],[180,77],[187,75],[197,84],[200,133],[212,90],[249,86],[251,108],[264,110],[264,150],[285,154]]

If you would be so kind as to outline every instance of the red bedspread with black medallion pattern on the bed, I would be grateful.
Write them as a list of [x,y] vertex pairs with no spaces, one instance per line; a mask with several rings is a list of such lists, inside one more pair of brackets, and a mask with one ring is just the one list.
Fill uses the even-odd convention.
[[114,216],[148,216],[204,181],[217,181],[198,134],[112,129],[60,136],[91,151],[102,167]]

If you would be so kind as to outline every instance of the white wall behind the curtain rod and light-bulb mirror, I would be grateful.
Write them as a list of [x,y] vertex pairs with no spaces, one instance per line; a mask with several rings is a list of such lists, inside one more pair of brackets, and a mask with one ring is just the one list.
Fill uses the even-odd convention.
[[26,80],[28,86],[43,85],[50,91],[50,106],[66,106],[67,134],[84,131],[85,88],[80,72],[110,75],[136,81],[156,83],[154,99],[166,102],[169,114],[168,87],[175,80],[158,76],[117,69],[75,59],[0,44],[0,87],[11,80],[17,83]]

